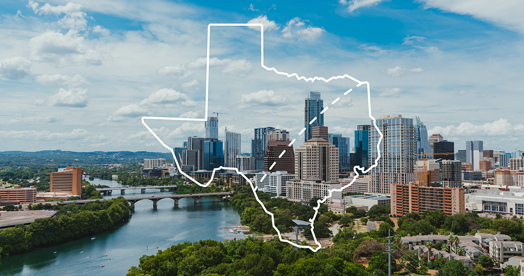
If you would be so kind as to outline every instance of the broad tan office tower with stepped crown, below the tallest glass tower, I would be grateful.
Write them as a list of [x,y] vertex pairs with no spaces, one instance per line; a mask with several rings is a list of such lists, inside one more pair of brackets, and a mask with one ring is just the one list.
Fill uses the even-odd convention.
[[339,179],[339,149],[322,138],[312,138],[295,150],[295,175],[322,181]]

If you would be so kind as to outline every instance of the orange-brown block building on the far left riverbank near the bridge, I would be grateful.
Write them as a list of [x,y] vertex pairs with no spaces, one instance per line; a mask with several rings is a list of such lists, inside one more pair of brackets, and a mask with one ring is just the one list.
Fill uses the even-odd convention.
[[51,193],[69,193],[73,196],[82,195],[82,174],[80,167],[66,167],[62,172],[51,173]]

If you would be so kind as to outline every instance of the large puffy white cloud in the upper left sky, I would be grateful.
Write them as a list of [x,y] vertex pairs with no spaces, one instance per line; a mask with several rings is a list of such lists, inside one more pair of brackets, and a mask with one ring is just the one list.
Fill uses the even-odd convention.
[[68,63],[78,65],[101,65],[101,55],[85,46],[85,39],[75,30],[66,34],[60,31],[47,30],[29,40],[32,56],[38,61],[57,63],[64,66]]

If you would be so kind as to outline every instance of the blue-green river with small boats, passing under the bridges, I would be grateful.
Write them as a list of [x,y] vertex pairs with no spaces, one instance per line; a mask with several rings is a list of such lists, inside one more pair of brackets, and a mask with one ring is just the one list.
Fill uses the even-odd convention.
[[[90,183],[121,186],[116,181],[101,179]],[[146,195],[173,194],[156,192],[158,190],[148,189]],[[136,189],[126,190],[124,196],[141,195],[144,194]],[[106,198],[118,196],[119,191],[115,191]],[[138,266],[139,258],[144,254],[156,254],[157,250],[177,243],[243,237],[219,230],[240,222],[240,216],[230,203],[214,203],[211,197],[203,197],[199,201],[199,204],[194,204],[192,198],[182,198],[179,205],[174,206],[172,199],[165,198],[158,201],[157,208],[153,209],[152,201],[140,200],[135,204],[135,211],[128,222],[96,235],[94,240],[84,237],[0,258],[0,275],[125,275],[131,266]],[[102,263],[105,264],[103,268]]]

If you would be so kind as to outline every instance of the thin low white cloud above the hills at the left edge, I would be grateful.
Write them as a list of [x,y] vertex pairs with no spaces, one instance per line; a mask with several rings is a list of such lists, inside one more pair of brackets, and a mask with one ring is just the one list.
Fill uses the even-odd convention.
[[75,129],[71,132],[50,132],[50,131],[0,131],[2,137],[8,139],[23,139],[23,140],[80,140],[86,139],[91,135],[91,132],[84,129]]

